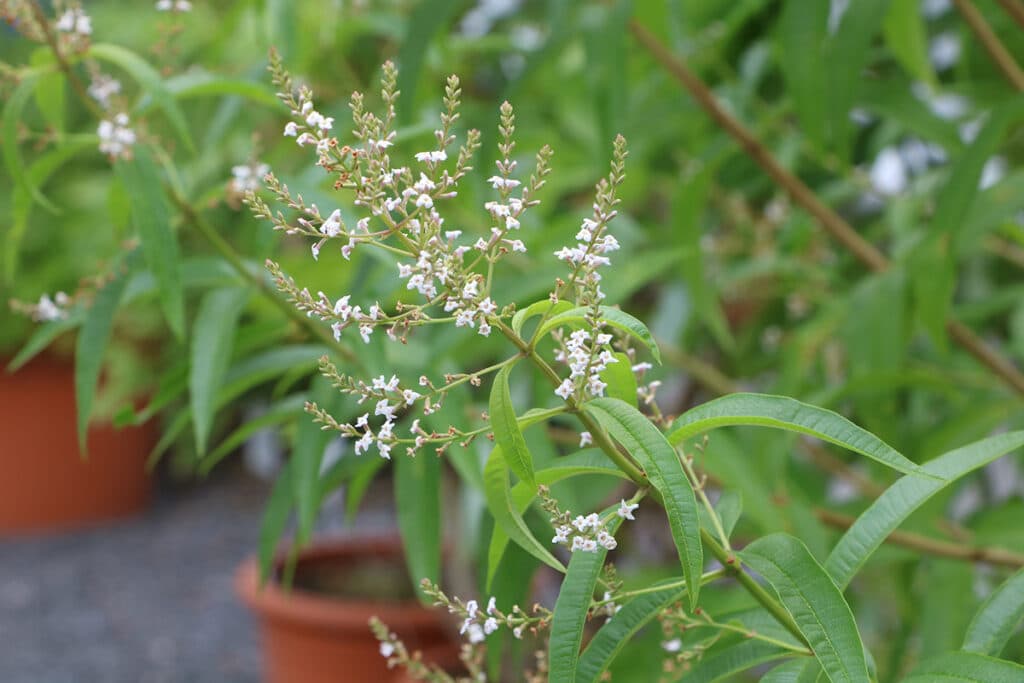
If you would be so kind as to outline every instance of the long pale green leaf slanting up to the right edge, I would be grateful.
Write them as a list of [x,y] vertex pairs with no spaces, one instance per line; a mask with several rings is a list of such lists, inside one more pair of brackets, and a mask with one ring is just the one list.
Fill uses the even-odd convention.
[[902,477],[862,512],[836,544],[825,561],[829,575],[845,589],[871,553],[911,512],[953,481],[1022,445],[1024,431],[997,434],[926,463],[922,470],[936,478]]

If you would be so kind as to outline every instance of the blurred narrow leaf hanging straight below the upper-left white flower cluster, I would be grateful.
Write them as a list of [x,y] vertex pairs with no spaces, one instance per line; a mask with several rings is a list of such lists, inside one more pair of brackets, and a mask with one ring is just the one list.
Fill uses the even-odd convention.
[[181,339],[185,330],[181,256],[164,202],[160,172],[143,146],[135,148],[133,159],[119,161],[117,171],[131,198],[132,222],[138,230],[146,265],[157,279],[167,324]]

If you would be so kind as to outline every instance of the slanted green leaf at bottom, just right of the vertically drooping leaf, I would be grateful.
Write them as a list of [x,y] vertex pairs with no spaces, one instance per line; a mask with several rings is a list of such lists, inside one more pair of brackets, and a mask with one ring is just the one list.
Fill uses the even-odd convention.
[[[675,582],[676,580],[660,583]],[[657,584],[651,588],[657,588]],[[598,683],[630,639],[667,607],[681,601],[685,595],[685,588],[675,586],[640,595],[623,605],[614,617],[606,621],[591,638],[580,657],[575,680],[579,683]]]

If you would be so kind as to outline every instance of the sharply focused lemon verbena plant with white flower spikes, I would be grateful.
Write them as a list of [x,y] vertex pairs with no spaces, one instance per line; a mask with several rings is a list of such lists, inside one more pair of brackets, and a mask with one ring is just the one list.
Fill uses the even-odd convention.
[[[535,254],[520,227],[542,201],[552,152],[542,147],[531,169],[520,168],[511,104],[500,108],[496,168],[478,171],[472,164],[481,135],[460,130],[456,77],[447,80],[433,142],[407,156],[398,153],[397,73],[391,63],[383,68],[382,111],[371,111],[367,98],[352,95],[348,141],[339,139],[334,118],[317,110],[312,91],[297,87],[280,59],[271,58],[270,69],[293,115],[284,135],[330,175],[338,206],[307,203],[272,173],[265,185],[280,208],[255,193],[246,202],[276,229],[307,240],[311,258],[337,250],[348,260],[353,253],[378,251],[392,261],[403,294],[385,304],[340,292],[313,294],[268,261],[282,292],[337,339],[349,337],[355,345],[415,346],[420,335],[431,332],[427,328],[450,326],[459,335],[501,338],[506,348],[503,359],[485,367],[440,373],[427,364],[408,377],[396,372],[357,378],[327,357],[321,362],[323,375],[354,404],[350,414],[357,417],[339,420],[316,402],[308,402],[306,411],[323,429],[348,439],[356,455],[396,464],[454,460],[459,450],[492,442],[482,450],[478,478],[467,476],[464,464],[455,468],[467,485],[482,487],[494,520],[479,594],[450,596],[438,577],[426,578],[422,586],[461,621],[467,673],[453,678],[424,663],[398,634],[375,621],[372,628],[389,665],[408,667],[423,680],[497,679],[503,669],[485,651],[500,634],[510,634],[539,644],[537,664],[522,674],[527,680],[607,680],[631,638],[658,622],[667,679],[721,680],[760,667],[768,672],[764,680],[871,680],[871,657],[844,597],[851,579],[911,512],[955,479],[1024,444],[1024,433],[992,436],[919,465],[842,416],[782,396],[730,394],[675,418],[665,415],[656,400],[658,383],[648,376],[659,361],[657,345],[647,327],[615,307],[602,290],[615,276],[613,219],[627,159],[623,137],[611,144],[610,171],[598,181],[592,211],[581,217],[579,230],[566,234],[566,246],[556,252]],[[446,218],[450,201],[474,173],[490,188],[479,207],[481,219]],[[557,259],[562,273],[546,298],[511,300],[496,287],[496,272],[513,260],[522,268],[527,259]],[[538,378],[550,385],[546,399],[517,405],[516,384]],[[437,426],[435,418],[454,392],[484,383],[489,384],[485,412]],[[537,467],[525,430],[560,425],[564,432],[570,424],[572,452]],[[782,532],[737,548],[731,531],[741,513],[739,501],[709,485],[698,457],[707,432],[725,425],[814,436],[901,477],[823,561]],[[582,475],[621,483],[603,507],[570,510],[552,486]],[[400,496],[396,500],[399,509],[412,504]],[[543,511],[546,525],[528,522],[531,509]],[[658,516],[666,518],[678,555],[677,575],[625,590],[610,562],[612,553],[622,552],[616,537],[627,522],[650,525]],[[562,574],[553,604],[510,603],[497,588],[508,587],[496,577],[513,545],[536,560],[530,566],[547,565]],[[1020,574],[1014,581],[1019,583]],[[529,575],[519,582],[528,584]],[[744,608],[709,613],[701,603],[709,584],[748,594],[740,601]],[[984,672],[970,680],[1020,680],[1020,667],[995,658],[996,641],[1006,642],[1013,628],[1000,614],[996,604],[986,602],[964,649],[926,661],[914,680],[967,671]],[[1019,618],[1020,605],[1015,614]],[[999,635],[985,637],[992,633]]]

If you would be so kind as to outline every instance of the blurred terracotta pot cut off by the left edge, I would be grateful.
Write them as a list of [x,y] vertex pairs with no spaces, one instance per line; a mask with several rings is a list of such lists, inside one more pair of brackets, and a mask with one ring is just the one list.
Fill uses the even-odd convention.
[[70,362],[0,368],[0,536],[93,524],[147,506],[154,429],[97,424],[83,459],[75,415]]

